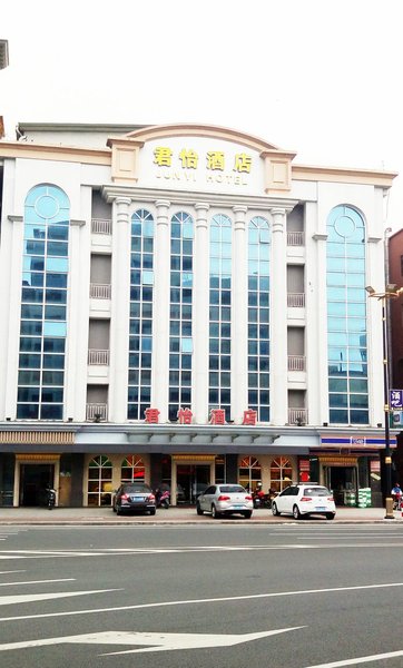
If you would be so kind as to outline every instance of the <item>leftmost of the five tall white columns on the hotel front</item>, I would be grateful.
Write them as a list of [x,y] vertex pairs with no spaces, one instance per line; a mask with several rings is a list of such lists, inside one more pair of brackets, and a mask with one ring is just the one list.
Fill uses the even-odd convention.
[[127,420],[130,312],[129,197],[117,197],[112,212],[109,421]]

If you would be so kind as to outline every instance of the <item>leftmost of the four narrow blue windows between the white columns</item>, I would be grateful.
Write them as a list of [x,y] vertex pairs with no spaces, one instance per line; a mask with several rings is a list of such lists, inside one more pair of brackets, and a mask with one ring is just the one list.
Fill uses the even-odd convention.
[[145,209],[131,216],[129,420],[144,420],[151,401],[154,218]]

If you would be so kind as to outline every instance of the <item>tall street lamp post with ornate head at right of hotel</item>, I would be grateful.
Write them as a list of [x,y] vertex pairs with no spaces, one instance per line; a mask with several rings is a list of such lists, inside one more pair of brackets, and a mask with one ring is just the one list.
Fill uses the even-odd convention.
[[402,293],[403,287],[396,288],[396,285],[386,285],[383,293],[377,293],[371,285],[365,287],[370,297],[375,297],[382,302],[382,350],[383,350],[383,396],[384,396],[384,420],[385,420],[385,519],[393,520],[393,499],[392,489],[392,455],[390,438],[390,360],[389,360],[389,336],[387,336],[387,308],[390,299],[396,299]]

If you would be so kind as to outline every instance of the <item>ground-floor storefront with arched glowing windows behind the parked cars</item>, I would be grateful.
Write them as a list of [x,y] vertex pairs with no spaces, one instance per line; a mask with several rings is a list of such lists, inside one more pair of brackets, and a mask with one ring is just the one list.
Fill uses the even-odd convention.
[[[262,452],[263,450],[263,452]],[[313,450],[298,454],[264,452],[7,452],[0,453],[0,504],[45,504],[47,485],[59,507],[110,507],[121,482],[168,487],[171,504],[195,504],[212,483],[236,482],[254,491],[279,492],[292,482],[317,482],[337,505],[355,505],[366,490],[367,504],[382,505],[381,458],[376,451],[348,454]],[[267,449],[266,449],[267,450]]]

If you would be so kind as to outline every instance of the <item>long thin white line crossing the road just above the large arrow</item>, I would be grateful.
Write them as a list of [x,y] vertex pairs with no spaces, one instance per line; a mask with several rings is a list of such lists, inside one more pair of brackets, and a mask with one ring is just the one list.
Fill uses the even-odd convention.
[[[394,588],[394,587],[403,587],[403,582],[389,582],[384,584],[361,584],[354,587],[332,587],[327,589],[301,589],[296,591],[275,591],[271,593],[250,593],[246,596],[226,596],[226,597],[217,597],[217,598],[208,598],[208,599],[188,599],[188,600],[177,600],[177,601],[159,601],[155,603],[136,603],[132,606],[116,606],[112,608],[97,608],[89,610],[69,610],[66,612],[47,612],[43,615],[21,615],[17,617],[0,617],[0,621],[18,621],[22,619],[45,619],[49,617],[73,617],[77,615],[99,615],[100,612],[119,612],[121,610],[145,610],[146,608],[168,608],[174,606],[195,606],[195,605],[204,605],[204,603],[224,603],[224,602],[233,602],[233,601],[249,601],[256,599],[269,599],[269,598],[282,598],[285,596],[306,596],[306,595],[320,595],[320,593],[341,593],[343,591],[363,591],[371,589],[385,589],[385,588]],[[119,591],[119,590],[109,590],[101,589],[102,591]],[[97,593],[97,591],[83,592],[83,593]],[[66,593],[65,596],[71,596]],[[10,597],[11,598],[11,597]],[[14,601],[19,602],[19,601]],[[1,598],[0,598],[1,605]]]

